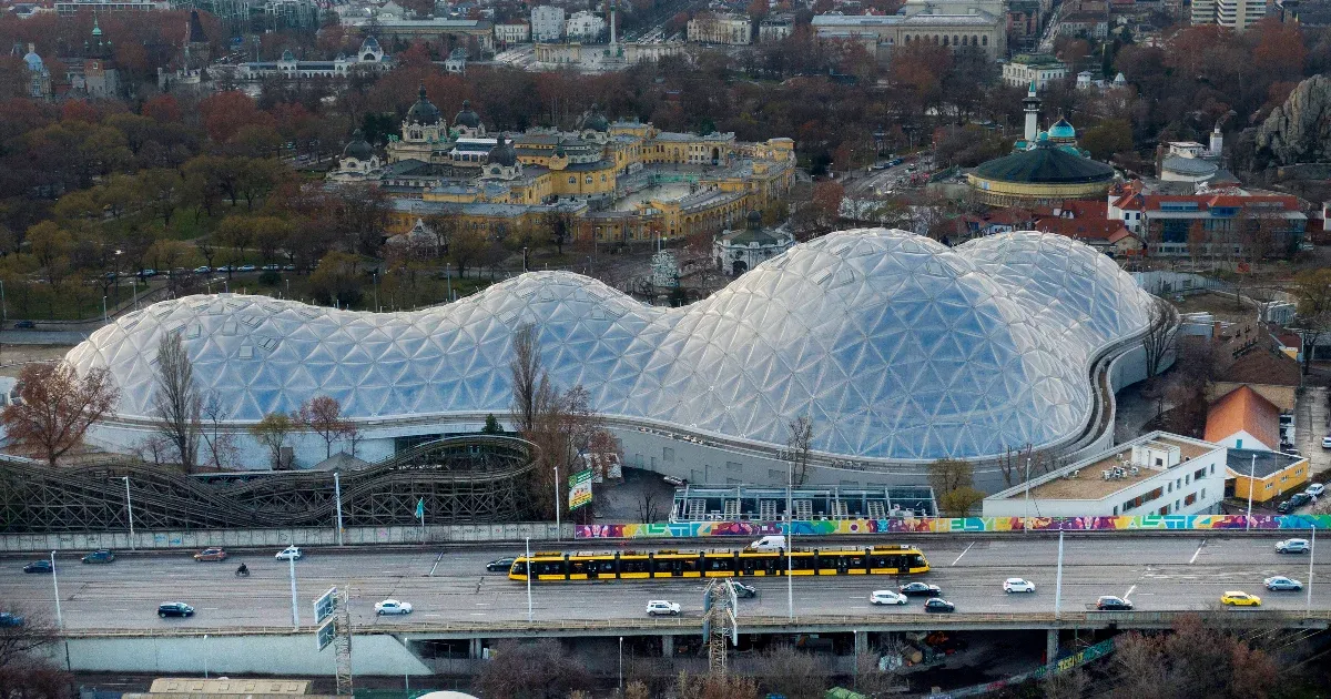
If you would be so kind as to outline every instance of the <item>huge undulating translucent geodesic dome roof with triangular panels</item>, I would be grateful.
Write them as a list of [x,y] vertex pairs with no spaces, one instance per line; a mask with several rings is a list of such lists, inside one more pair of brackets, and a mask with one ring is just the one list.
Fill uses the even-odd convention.
[[1089,358],[1145,328],[1147,298],[1053,234],[949,249],[865,229],[799,245],[681,309],[566,272],[411,313],[193,296],[117,320],[68,359],[109,367],[125,417],[149,415],[168,332],[233,421],[314,395],[385,422],[503,414],[512,333],[530,322],[551,379],[580,383],[607,417],[784,443],[809,415],[819,451],[934,459],[1074,435],[1093,406]]

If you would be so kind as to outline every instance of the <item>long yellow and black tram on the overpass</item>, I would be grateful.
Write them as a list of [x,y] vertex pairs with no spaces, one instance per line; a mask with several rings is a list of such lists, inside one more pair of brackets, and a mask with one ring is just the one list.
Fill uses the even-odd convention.
[[[518,557],[508,579],[527,581],[527,557]],[[785,575],[908,575],[928,573],[929,561],[913,546],[868,549],[712,549],[680,551],[560,553],[531,557],[532,582],[635,581],[650,578],[728,578]]]

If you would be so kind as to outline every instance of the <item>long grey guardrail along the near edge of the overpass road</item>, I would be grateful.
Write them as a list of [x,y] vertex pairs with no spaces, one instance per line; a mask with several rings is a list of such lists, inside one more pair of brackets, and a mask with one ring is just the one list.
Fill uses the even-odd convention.
[[[1069,611],[1054,614],[1040,612],[954,612],[954,614],[845,614],[795,616],[745,616],[745,632],[779,630],[836,630],[836,628],[890,628],[928,626],[930,628],[954,628],[962,626],[1012,627],[1029,624],[1030,628],[1087,628],[1114,624],[1131,627],[1166,627],[1181,616],[1201,615],[1211,626],[1288,626],[1326,627],[1331,626],[1331,610],[1278,611],[1278,610],[1179,610],[1179,611]],[[699,616],[669,616],[642,619],[555,619],[527,623],[515,622],[421,622],[397,623],[391,627],[354,627],[355,635],[417,635],[417,634],[461,634],[484,638],[491,634],[558,634],[579,632],[604,635],[679,635],[701,634],[703,619]],[[105,628],[71,630],[64,638],[202,638],[246,636],[246,635],[302,635],[314,634],[314,626],[258,626],[258,627],[210,627],[210,628]]]

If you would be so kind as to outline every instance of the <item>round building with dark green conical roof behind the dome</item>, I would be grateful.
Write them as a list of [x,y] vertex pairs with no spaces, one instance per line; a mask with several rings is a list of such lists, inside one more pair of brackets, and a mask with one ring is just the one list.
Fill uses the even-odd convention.
[[1054,206],[1069,198],[1099,198],[1114,168],[1057,146],[1041,133],[1036,148],[981,164],[970,188],[992,206]]

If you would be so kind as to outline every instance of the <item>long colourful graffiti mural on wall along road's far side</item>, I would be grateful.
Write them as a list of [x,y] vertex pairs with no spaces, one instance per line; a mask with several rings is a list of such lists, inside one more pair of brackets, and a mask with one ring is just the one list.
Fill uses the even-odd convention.
[[835,537],[839,534],[985,534],[1000,531],[1133,531],[1133,530],[1310,530],[1331,529],[1331,515],[1142,515],[1142,517],[926,517],[795,522],[671,522],[650,525],[578,525],[579,539],[672,539],[761,537],[765,534]]

